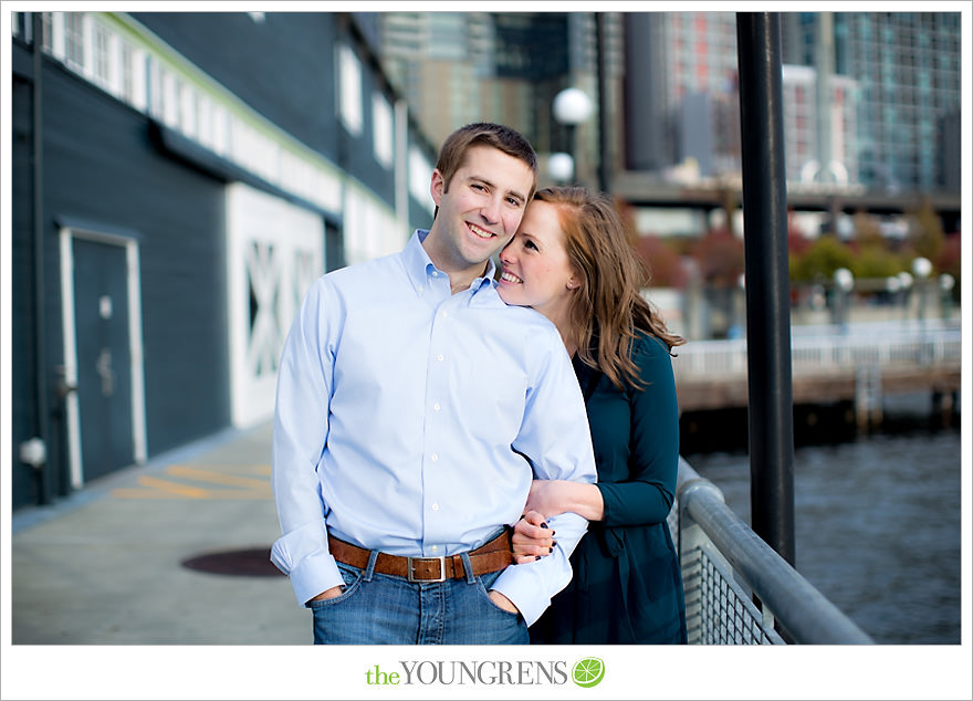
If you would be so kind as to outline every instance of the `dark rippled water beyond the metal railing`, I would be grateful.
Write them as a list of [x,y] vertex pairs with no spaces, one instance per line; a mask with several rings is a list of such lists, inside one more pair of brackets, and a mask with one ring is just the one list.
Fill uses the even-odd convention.
[[[961,474],[969,480],[970,465],[959,427],[931,421],[925,406],[887,414],[867,435],[795,440],[795,565],[882,645],[961,642]],[[750,523],[745,450],[683,454]]]

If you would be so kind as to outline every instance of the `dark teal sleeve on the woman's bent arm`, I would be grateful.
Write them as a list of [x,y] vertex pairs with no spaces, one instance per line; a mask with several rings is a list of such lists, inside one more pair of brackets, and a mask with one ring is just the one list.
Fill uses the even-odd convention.
[[599,482],[605,526],[650,525],[669,515],[679,469],[679,406],[665,344],[642,336],[632,346],[644,389],[628,387],[631,406],[629,479]]

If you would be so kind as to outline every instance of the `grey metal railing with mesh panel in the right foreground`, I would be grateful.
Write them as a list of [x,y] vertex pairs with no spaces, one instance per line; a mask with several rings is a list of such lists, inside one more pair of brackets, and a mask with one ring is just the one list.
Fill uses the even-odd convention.
[[690,645],[873,644],[682,458],[669,527],[679,548]]

